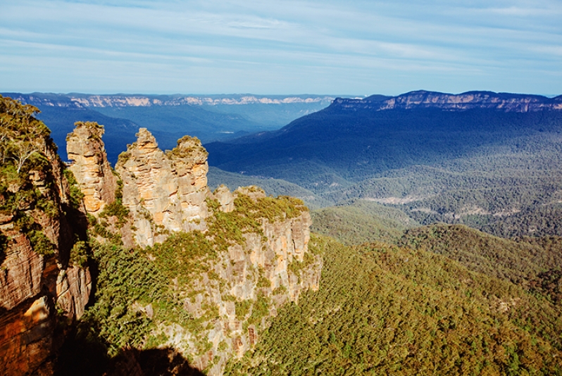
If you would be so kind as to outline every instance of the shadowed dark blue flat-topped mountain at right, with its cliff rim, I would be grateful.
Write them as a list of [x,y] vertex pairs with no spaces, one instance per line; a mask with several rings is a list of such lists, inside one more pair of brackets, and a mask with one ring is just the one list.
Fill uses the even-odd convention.
[[[338,98],[280,130],[207,148],[211,165],[223,170],[285,179],[314,190],[342,184],[335,175],[358,181],[385,170],[513,144],[517,137],[558,132],[561,126],[562,96],[418,91]],[[295,175],[289,166],[315,171],[309,177]]]

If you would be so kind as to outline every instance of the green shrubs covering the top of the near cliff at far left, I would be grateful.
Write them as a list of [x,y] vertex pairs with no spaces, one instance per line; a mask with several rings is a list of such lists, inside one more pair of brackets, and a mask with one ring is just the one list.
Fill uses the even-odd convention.
[[[43,256],[55,253],[46,237],[46,219],[61,215],[54,169],[60,167],[49,128],[35,118],[38,109],[0,96],[0,215],[12,220],[14,230],[27,235],[32,248]],[[49,157],[55,160],[49,161]],[[4,258],[1,246],[0,258]]]

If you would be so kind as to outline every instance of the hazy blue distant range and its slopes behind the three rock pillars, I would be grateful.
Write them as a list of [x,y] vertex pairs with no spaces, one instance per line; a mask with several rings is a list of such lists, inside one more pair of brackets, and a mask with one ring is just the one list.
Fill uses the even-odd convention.
[[39,108],[37,116],[49,124],[56,144],[65,143],[77,121],[96,121],[106,127],[108,158],[117,161],[139,127],[153,132],[163,149],[173,149],[185,134],[203,142],[275,130],[290,121],[328,106],[333,96],[295,95],[145,95],[1,93]]

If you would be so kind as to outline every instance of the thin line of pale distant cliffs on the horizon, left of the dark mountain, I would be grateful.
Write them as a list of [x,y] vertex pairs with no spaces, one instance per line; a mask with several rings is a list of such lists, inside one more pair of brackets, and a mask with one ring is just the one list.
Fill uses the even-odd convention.
[[254,94],[232,95],[146,95],[146,94],[53,94],[53,93],[2,93],[18,101],[34,106],[58,107],[149,107],[149,106],[217,106],[244,104],[325,104],[334,100],[334,96],[289,95],[261,96]]

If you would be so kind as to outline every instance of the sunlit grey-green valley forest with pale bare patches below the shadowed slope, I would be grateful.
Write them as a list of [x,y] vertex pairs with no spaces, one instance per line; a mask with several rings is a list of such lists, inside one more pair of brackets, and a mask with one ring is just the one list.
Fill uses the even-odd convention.
[[324,196],[373,199],[425,225],[463,223],[501,237],[560,236],[558,141],[551,137],[552,144],[535,154],[505,151],[392,170]]

